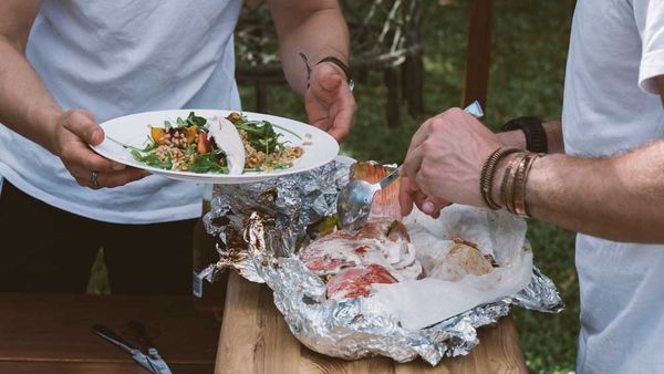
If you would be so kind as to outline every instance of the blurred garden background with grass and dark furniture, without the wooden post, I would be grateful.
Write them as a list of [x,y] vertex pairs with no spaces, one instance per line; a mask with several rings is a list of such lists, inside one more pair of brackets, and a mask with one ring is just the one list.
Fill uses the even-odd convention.
[[[341,2],[351,29],[359,104],[342,153],[401,163],[419,124],[463,105],[471,0]],[[487,126],[496,129],[522,115],[560,118],[573,7],[574,0],[494,1]],[[302,98],[286,86],[276,50],[264,1],[246,0],[236,32],[243,108],[305,122]],[[513,309],[521,349],[530,373],[573,372],[579,331],[574,236],[532,219],[528,227],[536,264],[556,282],[567,308],[554,315]],[[110,292],[102,256],[89,293]]]

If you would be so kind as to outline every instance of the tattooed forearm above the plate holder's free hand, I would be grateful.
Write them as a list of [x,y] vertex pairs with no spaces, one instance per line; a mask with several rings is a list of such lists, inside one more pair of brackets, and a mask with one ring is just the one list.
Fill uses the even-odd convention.
[[347,63],[349,31],[336,1],[270,1],[279,37],[279,54],[289,84],[299,93],[307,90],[309,63],[335,56]]

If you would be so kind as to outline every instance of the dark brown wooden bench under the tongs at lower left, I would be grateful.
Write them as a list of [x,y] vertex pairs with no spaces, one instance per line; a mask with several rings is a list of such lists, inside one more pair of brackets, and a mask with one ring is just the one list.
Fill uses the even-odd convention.
[[148,373],[94,335],[141,321],[174,373],[212,373],[219,323],[190,297],[0,293],[0,373]]

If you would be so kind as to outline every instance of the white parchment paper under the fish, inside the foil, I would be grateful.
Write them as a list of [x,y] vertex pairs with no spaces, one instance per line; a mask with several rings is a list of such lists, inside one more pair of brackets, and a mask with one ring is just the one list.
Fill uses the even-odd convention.
[[[453,205],[438,219],[418,210],[404,218],[425,278],[374,284],[373,301],[384,305],[402,325],[418,330],[477,305],[525,289],[532,277],[532,252],[525,247],[526,222],[506,211]],[[477,243],[499,267],[484,276],[465,274],[449,281],[442,274],[446,254],[460,238]],[[447,270],[447,269],[443,269]],[[464,269],[459,272],[465,273]]]

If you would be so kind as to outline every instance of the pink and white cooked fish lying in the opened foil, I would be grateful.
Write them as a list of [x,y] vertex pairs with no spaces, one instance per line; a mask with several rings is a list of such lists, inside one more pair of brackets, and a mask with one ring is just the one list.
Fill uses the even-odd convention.
[[[375,183],[393,168],[376,163],[357,163],[353,177]],[[360,298],[371,294],[373,283],[418,279],[423,268],[401,217],[398,184],[376,194],[369,221],[356,233],[335,231],[312,241],[300,259],[313,273],[328,278],[328,298]]]

